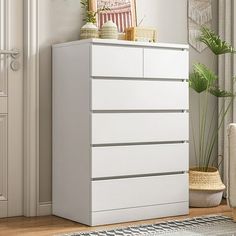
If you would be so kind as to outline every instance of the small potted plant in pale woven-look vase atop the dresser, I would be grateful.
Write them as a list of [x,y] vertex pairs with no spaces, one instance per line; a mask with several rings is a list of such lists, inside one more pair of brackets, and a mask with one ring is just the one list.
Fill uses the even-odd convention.
[[80,30],[80,39],[99,38],[99,32],[96,26],[97,14],[109,10],[105,5],[96,11],[92,10],[92,1],[94,0],[80,0],[81,7],[85,9],[83,21],[86,22]]

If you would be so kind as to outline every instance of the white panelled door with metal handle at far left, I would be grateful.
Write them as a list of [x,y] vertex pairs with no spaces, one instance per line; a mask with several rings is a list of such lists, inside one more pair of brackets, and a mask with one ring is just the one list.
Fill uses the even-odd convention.
[[22,214],[23,0],[0,0],[0,217]]

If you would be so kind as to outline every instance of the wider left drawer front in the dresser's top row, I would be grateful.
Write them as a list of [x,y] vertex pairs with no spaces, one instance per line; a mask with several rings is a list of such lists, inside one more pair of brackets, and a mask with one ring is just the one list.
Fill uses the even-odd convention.
[[143,49],[119,46],[92,46],[92,76],[143,77]]

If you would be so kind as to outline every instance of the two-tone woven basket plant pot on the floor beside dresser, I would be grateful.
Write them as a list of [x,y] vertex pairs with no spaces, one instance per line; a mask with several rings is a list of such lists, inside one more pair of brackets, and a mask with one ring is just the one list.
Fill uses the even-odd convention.
[[207,172],[199,168],[189,170],[189,205],[191,207],[215,207],[222,200],[225,185],[219,171],[208,168]]

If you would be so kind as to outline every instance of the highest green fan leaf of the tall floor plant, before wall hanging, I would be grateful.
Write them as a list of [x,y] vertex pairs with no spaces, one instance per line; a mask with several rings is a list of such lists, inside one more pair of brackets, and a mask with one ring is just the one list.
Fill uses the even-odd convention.
[[220,36],[205,26],[201,28],[199,40],[205,43],[216,55],[236,52],[230,44],[221,40]]

